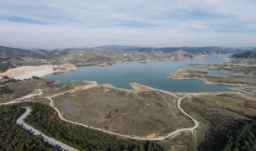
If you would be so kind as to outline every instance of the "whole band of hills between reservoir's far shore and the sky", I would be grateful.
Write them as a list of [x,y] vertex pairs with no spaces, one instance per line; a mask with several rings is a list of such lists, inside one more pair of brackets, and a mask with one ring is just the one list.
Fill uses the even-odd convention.
[[[72,65],[110,65],[117,62],[129,63],[150,60],[190,59],[200,55],[234,54],[248,49],[220,47],[138,47],[106,45],[95,48],[65,48],[46,51],[0,46],[1,71],[20,66],[39,66],[44,64]],[[6,63],[8,62],[8,63]]]

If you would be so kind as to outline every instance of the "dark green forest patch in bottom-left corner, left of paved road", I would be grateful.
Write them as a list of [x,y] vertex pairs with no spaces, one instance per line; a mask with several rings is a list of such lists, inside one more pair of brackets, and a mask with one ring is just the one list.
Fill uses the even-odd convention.
[[0,150],[57,151],[16,124],[16,120],[23,113],[24,110],[19,104],[0,106]]

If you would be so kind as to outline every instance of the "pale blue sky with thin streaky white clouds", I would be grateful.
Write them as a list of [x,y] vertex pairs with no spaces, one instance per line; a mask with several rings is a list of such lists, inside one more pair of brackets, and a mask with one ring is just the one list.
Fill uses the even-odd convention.
[[0,45],[256,46],[256,0],[1,0]]

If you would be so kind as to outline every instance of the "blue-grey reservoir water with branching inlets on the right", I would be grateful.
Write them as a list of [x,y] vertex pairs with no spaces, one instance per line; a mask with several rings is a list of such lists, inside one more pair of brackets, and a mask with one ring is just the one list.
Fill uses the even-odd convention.
[[107,66],[82,66],[76,71],[69,71],[60,74],[51,74],[43,78],[66,83],[69,81],[96,81],[98,84],[111,84],[115,87],[131,89],[129,83],[138,83],[156,89],[169,92],[227,92],[228,88],[234,86],[221,86],[205,84],[202,80],[173,80],[167,79],[171,72],[182,68],[197,69],[210,72],[214,75],[230,75],[228,73],[187,67],[186,64],[215,64],[230,61],[220,55],[202,56],[188,60],[150,61],[139,63],[131,61],[128,64],[116,63]]

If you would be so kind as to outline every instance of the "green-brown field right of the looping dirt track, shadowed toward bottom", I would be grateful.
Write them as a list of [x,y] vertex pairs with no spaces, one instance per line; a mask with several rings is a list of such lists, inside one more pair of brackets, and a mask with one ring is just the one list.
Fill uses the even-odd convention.
[[195,133],[198,149],[223,149],[227,132],[239,128],[236,119],[251,120],[255,116],[256,109],[246,106],[250,98],[240,94],[190,95],[184,98],[181,107],[200,123]]

